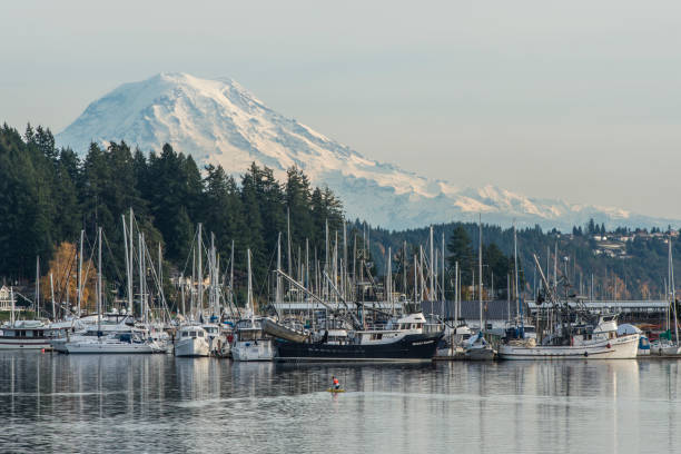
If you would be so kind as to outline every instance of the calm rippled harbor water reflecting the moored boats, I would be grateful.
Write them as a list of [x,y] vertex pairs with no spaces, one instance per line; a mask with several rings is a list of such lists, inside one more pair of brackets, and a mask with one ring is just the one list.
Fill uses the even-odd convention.
[[[0,352],[0,451],[674,452],[679,364],[345,367]],[[332,374],[346,394],[323,391]]]

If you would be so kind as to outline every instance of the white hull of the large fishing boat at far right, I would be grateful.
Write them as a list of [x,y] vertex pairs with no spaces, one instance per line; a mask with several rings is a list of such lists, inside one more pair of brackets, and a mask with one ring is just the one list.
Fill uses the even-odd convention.
[[635,359],[639,351],[639,335],[603,339],[589,345],[551,346],[500,345],[501,359]]

